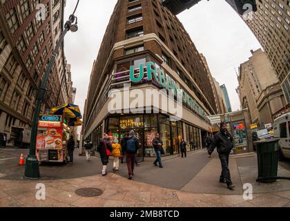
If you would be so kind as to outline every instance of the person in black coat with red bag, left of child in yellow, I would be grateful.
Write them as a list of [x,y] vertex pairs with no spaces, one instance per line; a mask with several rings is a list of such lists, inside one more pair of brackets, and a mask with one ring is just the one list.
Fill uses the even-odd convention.
[[110,153],[113,151],[110,140],[108,140],[108,135],[104,133],[103,138],[99,139],[99,145],[97,146],[97,151],[101,157],[101,164],[103,164],[103,169],[101,170],[101,175],[107,175],[107,165]]

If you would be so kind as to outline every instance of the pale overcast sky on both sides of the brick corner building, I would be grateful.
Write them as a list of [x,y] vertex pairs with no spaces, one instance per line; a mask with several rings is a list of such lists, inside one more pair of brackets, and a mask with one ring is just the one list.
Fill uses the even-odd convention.
[[[66,1],[65,19],[77,0]],[[75,15],[79,31],[65,37],[65,55],[71,64],[73,86],[77,88],[75,104],[84,113],[88,82],[106,26],[117,0],[80,0]],[[177,16],[200,53],[204,54],[211,74],[225,84],[233,111],[240,109],[235,88],[235,69],[251,57],[251,50],[261,48],[257,39],[238,14],[224,0],[200,1]]]

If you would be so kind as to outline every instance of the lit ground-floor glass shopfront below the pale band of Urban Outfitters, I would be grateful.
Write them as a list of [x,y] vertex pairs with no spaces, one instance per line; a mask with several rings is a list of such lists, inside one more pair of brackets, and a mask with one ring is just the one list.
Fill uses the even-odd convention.
[[165,155],[180,153],[182,138],[187,143],[187,151],[203,148],[202,135],[208,135],[200,128],[182,121],[170,121],[167,115],[162,114],[122,115],[106,119],[106,133],[119,138],[119,141],[133,128],[141,144],[138,151],[139,160],[143,160],[143,157],[156,156],[153,148],[155,133],[160,133]]

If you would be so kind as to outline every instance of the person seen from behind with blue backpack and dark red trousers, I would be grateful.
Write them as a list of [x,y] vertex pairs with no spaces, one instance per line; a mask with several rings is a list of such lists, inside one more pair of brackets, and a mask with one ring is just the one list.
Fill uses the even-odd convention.
[[128,140],[126,140],[126,162],[128,168],[128,179],[132,180],[134,175],[134,164],[135,164],[135,155],[139,149],[139,143],[135,137],[135,132],[132,130],[128,135]]

